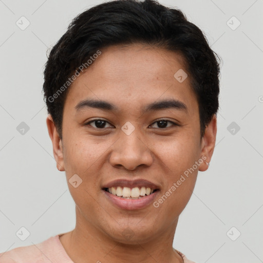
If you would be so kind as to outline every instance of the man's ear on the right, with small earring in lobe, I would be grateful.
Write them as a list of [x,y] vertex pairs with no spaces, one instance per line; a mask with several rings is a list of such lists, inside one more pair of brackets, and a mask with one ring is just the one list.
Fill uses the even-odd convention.
[[204,136],[201,141],[200,159],[204,160],[203,163],[199,165],[199,171],[201,172],[208,170],[208,165],[205,162],[210,163],[214,152],[217,132],[216,122],[216,115],[214,115],[211,122],[208,126],[206,126]]

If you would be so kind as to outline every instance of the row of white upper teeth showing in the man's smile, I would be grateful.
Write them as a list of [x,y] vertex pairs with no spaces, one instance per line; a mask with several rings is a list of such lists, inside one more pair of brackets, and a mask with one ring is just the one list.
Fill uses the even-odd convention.
[[151,189],[149,187],[134,187],[134,188],[129,188],[129,187],[109,187],[108,191],[112,195],[117,195],[117,196],[123,196],[123,197],[139,197],[139,196],[145,196],[150,195],[154,192],[154,189]]

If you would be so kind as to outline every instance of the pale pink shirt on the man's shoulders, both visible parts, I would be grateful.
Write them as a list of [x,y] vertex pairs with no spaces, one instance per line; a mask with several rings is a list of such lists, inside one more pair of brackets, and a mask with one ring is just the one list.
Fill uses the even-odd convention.
[[[62,246],[60,235],[52,236],[36,245],[0,253],[0,263],[74,263]],[[178,250],[176,252],[182,256],[184,263],[195,263]]]

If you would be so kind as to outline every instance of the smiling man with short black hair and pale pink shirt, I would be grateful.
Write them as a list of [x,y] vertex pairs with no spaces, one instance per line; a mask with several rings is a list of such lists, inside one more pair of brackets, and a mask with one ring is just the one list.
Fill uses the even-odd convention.
[[73,20],[44,74],[76,227],[1,262],[193,262],[173,239],[216,141],[219,65],[201,30],[155,1],[103,3]]

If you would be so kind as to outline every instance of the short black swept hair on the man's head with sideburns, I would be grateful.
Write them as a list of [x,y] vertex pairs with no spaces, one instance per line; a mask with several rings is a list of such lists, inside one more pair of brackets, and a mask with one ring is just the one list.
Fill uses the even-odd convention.
[[100,49],[133,43],[162,47],[182,55],[198,101],[203,137],[219,107],[220,57],[210,48],[201,29],[189,22],[180,9],[165,7],[154,0],[116,0],[75,17],[48,55],[44,100],[61,139],[64,102],[72,74],[76,72],[77,76],[83,71],[80,65],[87,65],[91,55]]

